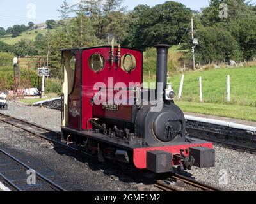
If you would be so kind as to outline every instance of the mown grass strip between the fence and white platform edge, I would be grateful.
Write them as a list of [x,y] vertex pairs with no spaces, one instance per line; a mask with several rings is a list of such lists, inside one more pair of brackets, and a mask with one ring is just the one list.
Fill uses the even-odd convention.
[[214,103],[176,102],[184,112],[202,113],[256,122],[256,108]]

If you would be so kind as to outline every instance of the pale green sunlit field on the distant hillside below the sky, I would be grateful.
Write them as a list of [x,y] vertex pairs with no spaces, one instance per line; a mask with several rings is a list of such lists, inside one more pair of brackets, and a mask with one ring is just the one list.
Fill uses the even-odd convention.
[[20,34],[16,38],[12,38],[12,34],[8,34],[8,35],[5,35],[5,36],[0,36],[0,41],[3,41],[4,43],[9,44],[9,45],[14,45],[15,43],[17,43],[22,38],[26,38],[26,39],[35,41],[35,38],[39,33],[44,34],[45,32],[47,32],[47,29],[45,29],[45,30],[24,31],[22,34]]

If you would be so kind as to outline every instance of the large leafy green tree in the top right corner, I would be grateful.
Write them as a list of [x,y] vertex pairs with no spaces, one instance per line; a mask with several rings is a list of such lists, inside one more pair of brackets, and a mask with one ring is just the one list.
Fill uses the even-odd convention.
[[[219,5],[227,4],[227,19],[219,17]],[[243,52],[244,59],[255,56],[255,6],[246,0],[211,0],[202,11],[200,20],[204,26],[220,27],[232,34]]]

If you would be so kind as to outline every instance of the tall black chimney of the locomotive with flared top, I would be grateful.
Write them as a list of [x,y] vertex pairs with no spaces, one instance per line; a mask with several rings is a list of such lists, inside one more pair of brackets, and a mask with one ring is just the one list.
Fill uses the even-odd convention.
[[155,45],[157,50],[157,66],[156,66],[156,90],[158,83],[163,83],[163,91],[167,88],[167,59],[170,45]]

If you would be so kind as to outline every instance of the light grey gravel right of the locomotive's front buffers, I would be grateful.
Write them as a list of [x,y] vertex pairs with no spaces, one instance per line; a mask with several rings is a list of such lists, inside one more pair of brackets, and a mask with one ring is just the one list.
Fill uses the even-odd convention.
[[189,173],[201,182],[232,191],[256,191],[256,155],[214,146],[215,168],[193,167]]

